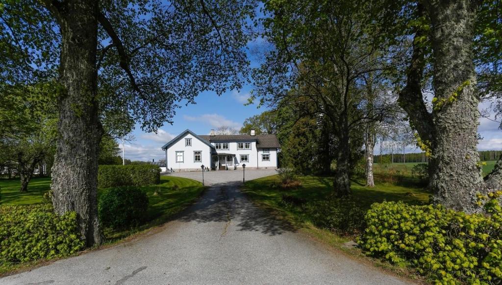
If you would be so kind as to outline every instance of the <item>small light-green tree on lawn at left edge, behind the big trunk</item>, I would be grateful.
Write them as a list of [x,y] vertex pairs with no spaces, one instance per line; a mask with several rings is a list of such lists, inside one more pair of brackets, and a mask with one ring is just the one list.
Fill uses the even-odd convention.
[[51,161],[56,140],[57,110],[54,90],[36,84],[0,86],[0,118],[5,122],[0,143],[4,160],[17,164],[21,192],[28,191],[35,167]]

